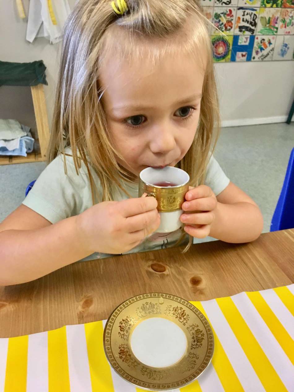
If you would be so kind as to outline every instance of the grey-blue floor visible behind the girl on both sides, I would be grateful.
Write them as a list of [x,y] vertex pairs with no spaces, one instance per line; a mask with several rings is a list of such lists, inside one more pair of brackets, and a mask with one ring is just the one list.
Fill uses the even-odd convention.
[[[270,230],[293,147],[294,123],[221,130],[214,156],[230,180],[260,206],[264,232]],[[22,203],[27,185],[39,176],[44,167],[43,162],[0,165],[0,221]]]

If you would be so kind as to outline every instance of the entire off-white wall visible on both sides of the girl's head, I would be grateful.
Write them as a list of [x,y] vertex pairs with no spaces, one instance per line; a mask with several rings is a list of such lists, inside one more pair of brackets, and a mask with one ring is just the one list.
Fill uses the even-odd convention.
[[[69,0],[71,8],[75,0]],[[0,60],[30,62],[44,60],[48,86],[45,87],[51,123],[54,84],[60,43],[45,38],[32,44],[25,40],[26,20],[18,16],[15,0],[0,0]],[[25,13],[29,0],[23,0]],[[223,125],[283,122],[293,100],[294,61],[216,64]],[[0,87],[0,118],[16,118],[34,128],[29,87]]]

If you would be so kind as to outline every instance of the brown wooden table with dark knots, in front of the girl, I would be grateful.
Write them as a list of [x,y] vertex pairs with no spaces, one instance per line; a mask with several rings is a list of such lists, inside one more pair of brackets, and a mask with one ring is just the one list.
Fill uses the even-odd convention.
[[0,287],[0,337],[106,319],[121,302],[146,292],[203,301],[293,281],[294,229],[247,244],[201,243],[185,254],[170,248],[74,263]]

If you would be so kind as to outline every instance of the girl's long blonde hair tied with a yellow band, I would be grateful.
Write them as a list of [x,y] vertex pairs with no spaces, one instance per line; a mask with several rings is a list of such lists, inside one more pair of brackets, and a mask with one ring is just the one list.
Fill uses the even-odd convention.
[[[113,200],[113,185],[127,194],[120,180],[131,180],[116,162],[119,154],[111,143],[100,100],[103,92],[99,68],[111,48],[115,47],[116,54],[127,58],[142,58],[142,40],[150,40],[153,45],[148,45],[148,55],[153,62],[166,53],[185,51],[196,55],[204,50],[198,129],[189,151],[178,163],[189,174],[191,186],[203,184],[218,136],[220,119],[209,34],[211,24],[201,13],[198,0],[128,0],[127,6],[128,11],[118,16],[109,0],[80,0],[65,25],[48,162],[59,153],[64,154],[64,147],[70,146],[77,174],[81,161],[87,167],[93,203]],[[117,31],[114,34],[114,29],[125,33],[124,38],[120,39]],[[184,36],[185,40],[177,40],[177,36]],[[157,45],[159,42],[164,45]],[[100,196],[89,165],[100,178]]]

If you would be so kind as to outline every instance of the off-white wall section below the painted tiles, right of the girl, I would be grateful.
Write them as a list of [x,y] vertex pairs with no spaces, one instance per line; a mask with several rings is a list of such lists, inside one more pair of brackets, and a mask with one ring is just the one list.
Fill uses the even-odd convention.
[[294,61],[219,63],[215,69],[224,126],[286,121]]

